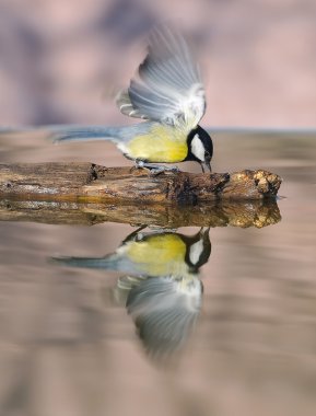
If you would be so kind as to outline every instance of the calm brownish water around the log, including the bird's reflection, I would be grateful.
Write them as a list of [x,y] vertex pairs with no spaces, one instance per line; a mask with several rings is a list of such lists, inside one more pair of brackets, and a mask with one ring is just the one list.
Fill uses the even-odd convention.
[[[12,207],[1,205],[1,415],[315,415],[316,134],[214,131],[213,140],[214,171],[282,176],[282,219],[202,229],[202,258],[201,238],[190,240],[200,228],[147,228],[131,236],[132,258],[154,263],[150,271],[65,265],[51,257],[120,255],[137,227],[8,221]],[[112,145],[35,136],[0,139],[0,154],[129,163]]]

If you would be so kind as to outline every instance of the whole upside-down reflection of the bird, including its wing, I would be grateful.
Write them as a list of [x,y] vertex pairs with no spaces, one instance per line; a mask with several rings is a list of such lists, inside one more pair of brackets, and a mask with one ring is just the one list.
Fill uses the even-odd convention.
[[126,293],[131,315],[147,353],[169,358],[184,348],[202,301],[199,268],[211,254],[209,228],[194,235],[174,230],[129,234],[112,254],[98,258],[54,257],[62,265],[124,273],[117,289]]

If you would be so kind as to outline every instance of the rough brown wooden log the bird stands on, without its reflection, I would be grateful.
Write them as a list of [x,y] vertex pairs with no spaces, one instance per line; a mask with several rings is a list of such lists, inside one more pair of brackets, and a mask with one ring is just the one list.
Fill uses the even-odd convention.
[[276,198],[280,176],[258,170],[194,174],[92,163],[0,164],[0,198],[83,203],[197,205]]

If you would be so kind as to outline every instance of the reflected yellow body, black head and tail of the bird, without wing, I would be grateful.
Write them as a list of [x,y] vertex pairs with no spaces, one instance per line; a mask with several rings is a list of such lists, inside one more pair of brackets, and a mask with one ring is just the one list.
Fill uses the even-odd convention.
[[196,274],[211,253],[209,228],[194,235],[157,229],[129,234],[112,254],[103,257],[55,256],[54,263],[71,267],[116,270],[131,276],[161,277]]

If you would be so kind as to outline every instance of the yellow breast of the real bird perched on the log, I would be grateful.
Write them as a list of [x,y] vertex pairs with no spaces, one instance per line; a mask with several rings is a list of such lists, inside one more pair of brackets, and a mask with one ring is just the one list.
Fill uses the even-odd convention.
[[154,125],[148,134],[136,136],[127,150],[132,159],[153,163],[182,162],[188,154],[187,137],[173,127]]

